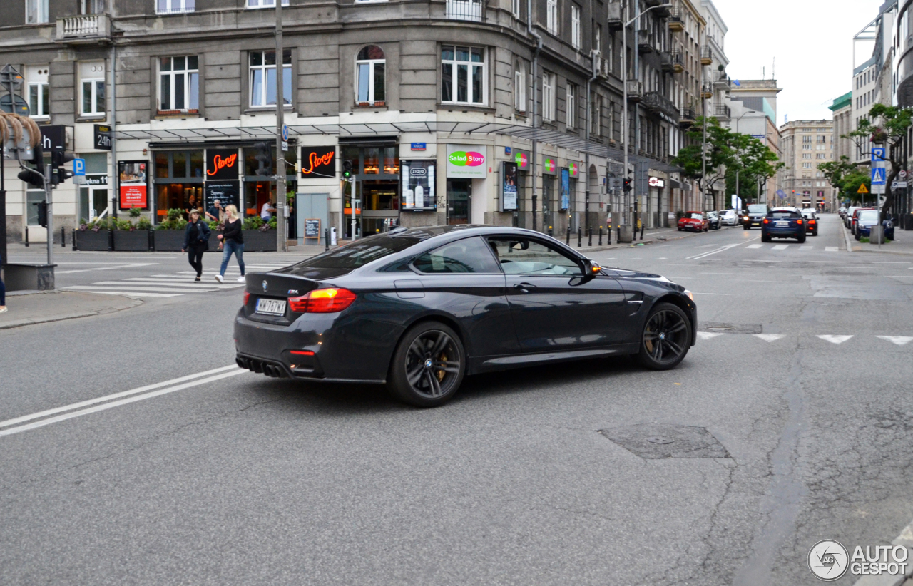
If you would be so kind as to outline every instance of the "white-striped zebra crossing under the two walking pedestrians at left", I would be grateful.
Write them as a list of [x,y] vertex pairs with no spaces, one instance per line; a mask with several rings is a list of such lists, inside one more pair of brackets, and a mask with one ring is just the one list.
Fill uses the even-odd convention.
[[[261,272],[282,267],[286,267],[286,265],[247,264],[245,270]],[[102,295],[122,295],[129,298],[172,298],[244,287],[244,283],[237,282],[241,273],[236,267],[226,271],[225,283],[215,280],[215,276],[218,274],[217,270],[205,270],[203,280],[194,281],[194,275],[196,275],[194,271],[180,271],[170,275],[125,277],[118,280],[98,281],[89,285],[71,285],[63,289]]]

